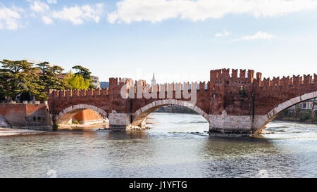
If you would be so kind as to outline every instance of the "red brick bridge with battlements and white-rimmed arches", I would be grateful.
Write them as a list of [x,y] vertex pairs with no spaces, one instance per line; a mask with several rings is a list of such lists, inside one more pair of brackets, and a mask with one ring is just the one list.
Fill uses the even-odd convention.
[[[81,110],[92,109],[108,118],[112,129],[125,130],[131,126],[144,127],[151,112],[175,104],[202,115],[209,122],[210,132],[251,134],[263,129],[283,110],[317,97],[316,74],[273,79],[262,79],[260,72],[254,75],[254,70],[240,70],[239,76],[238,70],[211,70],[210,81],[199,82],[197,86],[195,104],[184,98],[188,88],[188,93],[196,90],[191,90],[189,83],[155,85],[165,96],[157,93],[156,98],[137,98],[137,89],[127,87],[130,98],[123,98],[120,90],[125,84],[132,84],[132,80],[110,78],[109,89],[50,90],[49,109],[57,123],[66,123]],[[145,90],[146,82],[141,84]]]

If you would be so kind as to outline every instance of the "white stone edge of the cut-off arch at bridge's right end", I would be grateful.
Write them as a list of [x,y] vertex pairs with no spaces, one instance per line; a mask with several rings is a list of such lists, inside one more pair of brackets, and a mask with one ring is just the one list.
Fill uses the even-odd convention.
[[266,115],[254,116],[254,129],[255,130],[263,129],[266,126],[266,124],[271,122],[271,120],[273,120],[283,110],[290,108],[292,107],[292,105],[296,105],[297,103],[307,101],[311,98],[317,98],[317,91],[313,91],[311,93],[307,93],[301,96],[291,98],[290,100],[285,101],[284,103],[281,103],[277,107],[273,108],[273,110],[266,113]]

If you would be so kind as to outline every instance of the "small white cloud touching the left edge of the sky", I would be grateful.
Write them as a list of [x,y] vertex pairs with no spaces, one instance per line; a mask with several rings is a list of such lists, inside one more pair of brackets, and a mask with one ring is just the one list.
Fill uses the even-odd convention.
[[19,12],[23,12],[23,9],[15,6],[8,8],[0,4],[0,29],[16,30],[22,27]]

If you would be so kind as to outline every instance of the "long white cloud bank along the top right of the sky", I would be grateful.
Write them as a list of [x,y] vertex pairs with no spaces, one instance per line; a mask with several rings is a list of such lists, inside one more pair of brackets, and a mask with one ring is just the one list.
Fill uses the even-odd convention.
[[315,0],[122,0],[108,13],[110,23],[150,21],[168,18],[192,21],[222,18],[229,13],[247,13],[254,17],[273,17],[297,11],[317,10]]

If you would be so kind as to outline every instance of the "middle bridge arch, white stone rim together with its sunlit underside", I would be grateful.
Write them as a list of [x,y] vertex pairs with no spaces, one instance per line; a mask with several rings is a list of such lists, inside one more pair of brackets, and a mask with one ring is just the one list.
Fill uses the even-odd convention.
[[132,126],[139,126],[144,127],[145,126],[145,120],[147,119],[147,116],[154,112],[154,110],[157,110],[163,106],[167,105],[178,105],[186,108],[190,108],[203,116],[207,122],[209,122],[209,115],[204,112],[204,110],[201,110],[201,108],[197,107],[196,105],[193,105],[192,103],[189,103],[188,101],[180,101],[175,99],[165,99],[165,100],[159,100],[159,101],[153,101],[152,103],[149,103],[142,108],[139,108],[135,113],[133,114],[134,120],[132,121]]

